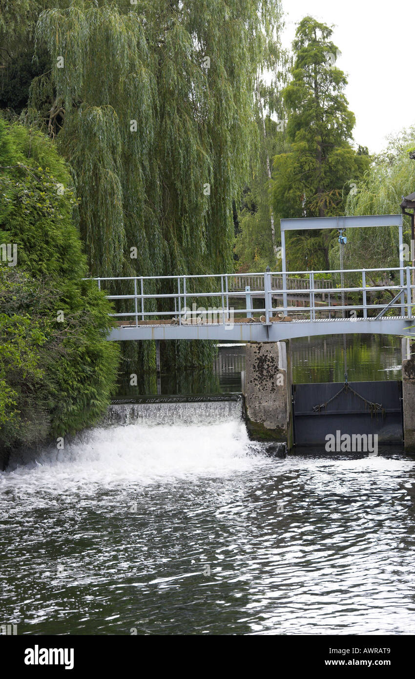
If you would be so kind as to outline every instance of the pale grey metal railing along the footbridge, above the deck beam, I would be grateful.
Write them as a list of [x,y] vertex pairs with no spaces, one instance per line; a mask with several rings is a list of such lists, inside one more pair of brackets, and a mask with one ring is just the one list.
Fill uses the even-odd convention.
[[[119,325],[194,325],[195,323],[265,323],[269,325],[281,316],[317,320],[317,318],[385,318],[385,313],[412,319],[412,267],[349,269],[341,272],[264,272],[264,274],[238,274],[243,282],[261,283],[245,285],[240,291],[235,289],[235,274],[205,274],[197,276],[133,276],[94,278],[98,287],[106,291],[107,299],[127,310],[115,310],[111,316],[122,319]],[[347,287],[338,287],[334,278],[343,273],[344,280],[349,278]],[[300,276],[294,278],[293,274]],[[316,278],[317,274],[328,274],[332,279]],[[382,276],[380,276],[382,274]],[[376,279],[381,278],[378,283]],[[275,283],[275,280],[277,283]],[[307,287],[290,287],[292,281],[307,282]],[[353,281],[357,281],[353,285]],[[367,285],[368,280],[370,285]],[[399,280],[399,283],[397,282]],[[403,285],[401,285],[403,280]],[[328,287],[328,283],[330,286]],[[239,285],[239,282],[238,282]],[[125,292],[128,287],[130,292]],[[242,286],[241,286],[242,287]],[[161,288],[170,292],[155,292]],[[323,295],[321,291],[323,290]],[[338,304],[338,297],[347,293],[350,304]],[[316,295],[321,301],[316,301]],[[300,301],[294,302],[298,295]],[[389,299],[389,297],[391,299]],[[230,306],[232,301],[241,299],[241,307]],[[253,299],[260,302],[254,307]],[[290,297],[290,300],[288,299]],[[262,301],[263,300],[263,301]],[[199,306],[200,302],[205,306]],[[290,301],[290,304],[289,304]],[[212,304],[212,306],[210,306]],[[208,305],[208,306],[206,306]],[[300,305],[300,306],[298,306]],[[274,316],[274,314],[278,314]],[[128,320],[128,319],[133,319]],[[127,321],[127,323],[125,323]]]

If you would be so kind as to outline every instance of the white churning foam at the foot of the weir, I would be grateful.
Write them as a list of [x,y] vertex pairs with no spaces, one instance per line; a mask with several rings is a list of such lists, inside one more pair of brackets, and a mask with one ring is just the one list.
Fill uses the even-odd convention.
[[98,427],[65,445],[10,460],[0,488],[87,492],[98,486],[223,477],[264,464],[242,420]]

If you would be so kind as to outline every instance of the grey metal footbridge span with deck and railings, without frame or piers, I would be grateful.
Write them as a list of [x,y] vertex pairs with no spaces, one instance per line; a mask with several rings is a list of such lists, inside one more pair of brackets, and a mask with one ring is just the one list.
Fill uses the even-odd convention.
[[[111,341],[279,342],[349,333],[411,335],[413,270],[408,266],[290,272],[290,276],[266,271],[238,274],[237,286],[233,274],[95,280],[115,305]],[[251,285],[237,289],[244,276],[251,282],[256,278],[254,289]],[[329,276],[330,287],[316,283]],[[343,286],[336,283],[340,277]],[[159,292],[161,287],[169,292]]]

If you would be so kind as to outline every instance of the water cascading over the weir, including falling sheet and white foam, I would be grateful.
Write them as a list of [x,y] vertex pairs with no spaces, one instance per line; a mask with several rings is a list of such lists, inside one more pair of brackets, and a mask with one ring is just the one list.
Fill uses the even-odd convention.
[[[264,445],[248,439],[242,400],[121,403],[102,422],[64,444],[14,454],[11,479],[44,487],[62,483],[117,485],[218,476],[252,468]],[[24,466],[22,466],[24,465]],[[62,478],[63,477],[63,478]]]

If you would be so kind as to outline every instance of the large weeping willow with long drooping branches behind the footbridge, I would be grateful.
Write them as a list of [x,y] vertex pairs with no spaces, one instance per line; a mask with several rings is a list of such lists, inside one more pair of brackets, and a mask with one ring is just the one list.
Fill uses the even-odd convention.
[[[254,76],[280,13],[279,0],[71,0],[41,12],[36,50],[52,67],[33,80],[26,120],[71,164],[91,274],[231,272],[233,200],[258,141]],[[162,280],[159,291],[170,292]],[[153,365],[153,344],[134,350]],[[212,355],[201,342],[165,352],[178,367]]]

